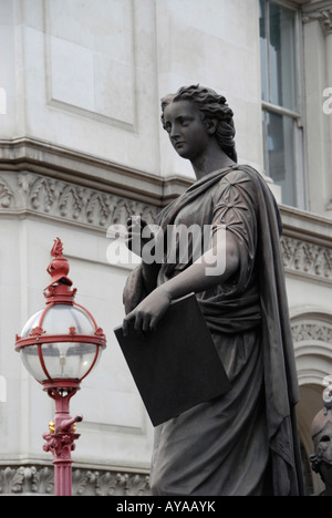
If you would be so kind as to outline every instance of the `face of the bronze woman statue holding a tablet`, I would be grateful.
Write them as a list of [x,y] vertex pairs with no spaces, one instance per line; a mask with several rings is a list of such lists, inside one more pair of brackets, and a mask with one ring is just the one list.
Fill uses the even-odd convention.
[[207,147],[210,136],[201,112],[190,101],[176,101],[164,110],[164,127],[175,151],[194,159]]

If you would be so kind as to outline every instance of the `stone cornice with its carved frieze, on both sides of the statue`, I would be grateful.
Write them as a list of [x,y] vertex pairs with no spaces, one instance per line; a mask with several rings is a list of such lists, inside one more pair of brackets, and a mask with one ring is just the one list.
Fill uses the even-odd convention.
[[[126,185],[128,178],[131,185]],[[190,183],[183,178],[164,182],[37,142],[0,144],[1,217],[42,218],[106,236],[111,225],[125,225],[131,215],[153,221],[159,208]],[[330,284],[332,220],[292,207],[280,210],[286,271]]]

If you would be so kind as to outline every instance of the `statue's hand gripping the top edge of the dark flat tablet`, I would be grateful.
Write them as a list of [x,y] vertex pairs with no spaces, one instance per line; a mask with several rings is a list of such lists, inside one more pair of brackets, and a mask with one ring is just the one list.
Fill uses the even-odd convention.
[[137,332],[153,331],[170,304],[170,294],[163,288],[156,288],[149,293],[123,321],[123,333],[128,334],[133,325]]

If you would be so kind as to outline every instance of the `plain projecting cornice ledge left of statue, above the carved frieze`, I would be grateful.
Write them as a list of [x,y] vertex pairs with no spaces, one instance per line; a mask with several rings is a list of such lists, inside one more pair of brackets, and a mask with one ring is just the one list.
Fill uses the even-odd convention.
[[167,205],[193,182],[163,178],[28,137],[0,139],[0,170],[29,170],[157,207]]

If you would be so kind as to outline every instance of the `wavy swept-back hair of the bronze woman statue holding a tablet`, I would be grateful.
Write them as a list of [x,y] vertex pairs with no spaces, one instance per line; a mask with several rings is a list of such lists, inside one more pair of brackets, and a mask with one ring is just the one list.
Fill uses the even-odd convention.
[[234,162],[238,162],[235,145],[234,112],[226,103],[224,95],[217,94],[211,89],[191,85],[181,86],[177,93],[162,99],[162,123],[165,130],[164,110],[176,101],[191,101],[207,118],[217,118],[219,124],[216,130],[216,139],[224,153]]

